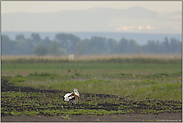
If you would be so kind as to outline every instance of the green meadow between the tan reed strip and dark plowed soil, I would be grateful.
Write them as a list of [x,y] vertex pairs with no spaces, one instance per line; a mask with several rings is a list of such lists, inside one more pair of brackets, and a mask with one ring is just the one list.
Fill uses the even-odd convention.
[[[108,62],[111,59],[103,63],[99,60],[44,63],[48,61],[44,60],[43,63],[32,64],[4,63],[1,66],[2,76],[12,77],[10,82],[15,85],[41,89],[71,91],[78,88],[81,92],[109,93],[137,99],[181,100],[181,60],[177,62],[175,59],[171,61],[173,63],[168,63],[170,60],[167,63],[163,60],[151,63],[152,60],[149,60],[148,63],[145,58],[141,63],[120,63],[123,59],[116,59],[117,63]],[[128,59],[129,62],[133,60]]]

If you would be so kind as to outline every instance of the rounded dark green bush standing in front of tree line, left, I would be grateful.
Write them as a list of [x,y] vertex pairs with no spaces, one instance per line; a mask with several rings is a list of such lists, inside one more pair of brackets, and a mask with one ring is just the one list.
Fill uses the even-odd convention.
[[45,46],[37,46],[34,49],[34,54],[37,56],[45,56],[48,53],[48,49]]

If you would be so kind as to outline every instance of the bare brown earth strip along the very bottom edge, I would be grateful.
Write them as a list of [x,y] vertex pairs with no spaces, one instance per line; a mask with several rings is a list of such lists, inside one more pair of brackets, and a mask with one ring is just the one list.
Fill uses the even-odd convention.
[[3,116],[1,122],[62,122],[62,121],[109,121],[109,122],[124,122],[124,121],[160,121],[160,122],[182,122],[182,113],[160,113],[158,115],[153,114],[112,114],[103,116],[91,116],[91,115],[70,115],[69,118],[63,118],[60,116]]

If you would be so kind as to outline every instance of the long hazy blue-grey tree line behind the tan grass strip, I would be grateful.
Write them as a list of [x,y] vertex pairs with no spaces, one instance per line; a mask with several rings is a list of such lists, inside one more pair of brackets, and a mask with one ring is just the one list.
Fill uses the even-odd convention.
[[38,33],[30,38],[16,35],[11,40],[7,35],[1,36],[2,55],[67,55],[67,54],[130,54],[130,53],[181,53],[182,41],[175,38],[164,38],[163,41],[149,40],[139,45],[132,39],[121,38],[119,41],[105,37],[93,36],[81,40],[73,34],[58,33],[54,40],[49,37],[42,39]]

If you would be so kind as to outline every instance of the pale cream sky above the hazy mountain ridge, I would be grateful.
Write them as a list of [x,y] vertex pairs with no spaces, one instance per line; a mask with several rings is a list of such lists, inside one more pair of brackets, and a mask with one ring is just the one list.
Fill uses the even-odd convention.
[[93,7],[128,9],[144,7],[156,12],[182,11],[181,1],[2,1],[2,13],[47,13],[61,10],[86,10]]

